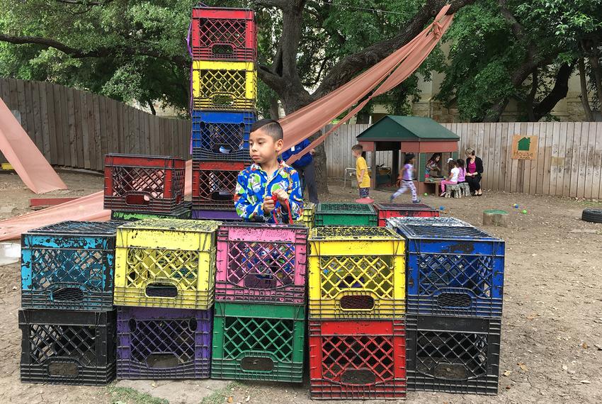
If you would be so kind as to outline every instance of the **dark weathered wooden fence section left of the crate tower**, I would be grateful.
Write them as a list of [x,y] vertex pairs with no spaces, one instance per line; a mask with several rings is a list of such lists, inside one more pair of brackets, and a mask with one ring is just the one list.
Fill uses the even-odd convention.
[[110,152],[190,158],[189,120],[45,82],[0,78],[0,97],[53,165],[100,171]]

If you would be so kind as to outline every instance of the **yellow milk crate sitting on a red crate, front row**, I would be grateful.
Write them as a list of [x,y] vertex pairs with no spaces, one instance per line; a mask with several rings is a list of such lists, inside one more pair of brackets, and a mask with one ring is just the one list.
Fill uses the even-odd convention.
[[309,237],[309,318],[402,318],[405,241],[388,228],[314,228]]

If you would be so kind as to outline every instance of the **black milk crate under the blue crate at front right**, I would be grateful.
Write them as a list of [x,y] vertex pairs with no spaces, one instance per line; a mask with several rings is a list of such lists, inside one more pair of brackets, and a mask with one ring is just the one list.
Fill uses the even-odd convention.
[[501,318],[407,315],[409,391],[498,392]]

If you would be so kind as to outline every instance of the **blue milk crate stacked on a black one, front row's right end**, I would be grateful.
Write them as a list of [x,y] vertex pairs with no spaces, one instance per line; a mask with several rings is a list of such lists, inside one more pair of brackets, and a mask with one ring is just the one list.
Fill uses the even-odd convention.
[[496,394],[504,241],[454,218],[390,218],[406,241],[409,391]]

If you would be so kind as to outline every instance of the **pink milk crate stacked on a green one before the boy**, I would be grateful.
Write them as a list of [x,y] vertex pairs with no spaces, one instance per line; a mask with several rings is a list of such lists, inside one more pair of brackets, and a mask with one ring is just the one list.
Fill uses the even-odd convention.
[[211,377],[301,383],[307,228],[222,223]]

